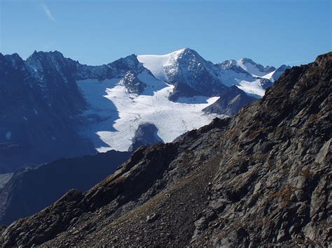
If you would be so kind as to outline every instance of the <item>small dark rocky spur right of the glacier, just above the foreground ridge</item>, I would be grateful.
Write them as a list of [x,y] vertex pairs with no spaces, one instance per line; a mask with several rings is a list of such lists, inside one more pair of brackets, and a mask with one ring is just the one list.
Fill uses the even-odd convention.
[[205,108],[203,111],[212,112],[219,115],[235,115],[241,108],[248,105],[256,99],[248,96],[236,86],[229,87],[226,92],[220,95],[220,98]]

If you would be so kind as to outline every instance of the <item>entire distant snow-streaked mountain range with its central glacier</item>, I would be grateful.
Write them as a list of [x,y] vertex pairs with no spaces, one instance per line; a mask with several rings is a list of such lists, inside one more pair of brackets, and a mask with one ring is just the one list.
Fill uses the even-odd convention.
[[251,59],[213,64],[188,48],[102,66],[60,52],[34,52],[26,60],[0,54],[0,173],[64,156],[127,151],[144,124],[171,142],[214,117],[234,115],[286,68]]

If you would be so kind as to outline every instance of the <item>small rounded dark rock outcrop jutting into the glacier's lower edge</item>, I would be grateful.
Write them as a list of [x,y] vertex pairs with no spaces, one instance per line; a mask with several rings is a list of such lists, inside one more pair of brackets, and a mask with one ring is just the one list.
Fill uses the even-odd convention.
[[162,143],[162,139],[158,136],[157,132],[158,129],[154,124],[145,123],[139,125],[128,152],[134,152],[141,145],[153,145],[158,142]]

